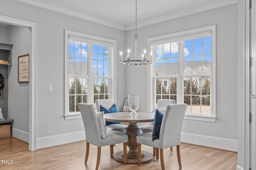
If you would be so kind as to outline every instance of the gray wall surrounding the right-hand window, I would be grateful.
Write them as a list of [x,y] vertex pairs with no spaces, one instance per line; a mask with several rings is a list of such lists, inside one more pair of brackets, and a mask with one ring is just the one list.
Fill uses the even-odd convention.
[[[158,35],[216,24],[216,123],[184,120],[182,132],[227,139],[237,139],[237,4],[200,12],[174,20],[138,29],[140,42],[147,47],[147,39]],[[127,49],[134,30],[126,32]],[[147,110],[147,66],[127,66],[126,77],[130,80],[126,95],[139,94],[139,110]],[[136,76],[134,76],[136,75]]]

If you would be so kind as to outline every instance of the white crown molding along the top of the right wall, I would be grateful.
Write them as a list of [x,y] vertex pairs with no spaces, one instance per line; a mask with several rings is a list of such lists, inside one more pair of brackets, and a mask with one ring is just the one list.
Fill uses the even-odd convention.
[[[191,14],[196,14],[196,13],[199,13],[199,12],[212,10],[212,9],[215,9],[215,8],[220,8],[222,6],[236,4],[236,3],[238,3],[238,0],[212,0],[212,1],[209,1],[209,2],[205,2],[203,4],[190,6],[188,8],[183,8],[181,10],[177,10],[177,11],[170,12],[170,13],[167,13],[167,14],[163,14],[163,15],[160,15],[160,16],[148,18],[146,20],[137,21],[137,28],[144,27],[144,26],[147,26],[147,25],[152,25],[154,23],[160,23],[160,22],[172,20],[172,19],[175,19],[175,18],[183,17],[183,16],[188,16],[188,15],[191,15]],[[126,24],[125,25],[125,30],[128,31],[128,30],[134,29],[134,25],[135,25],[135,22]]]

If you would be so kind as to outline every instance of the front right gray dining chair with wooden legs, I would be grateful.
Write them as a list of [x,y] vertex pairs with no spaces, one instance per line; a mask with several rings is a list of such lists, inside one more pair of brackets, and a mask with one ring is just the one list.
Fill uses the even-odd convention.
[[137,136],[138,145],[138,165],[141,163],[141,144],[156,148],[158,159],[158,150],[160,149],[160,162],[164,170],[163,149],[177,146],[177,157],[179,167],[182,168],[180,158],[180,135],[183,118],[186,112],[187,104],[170,104],[166,107],[160,128],[159,139],[152,141],[152,133],[142,133]]

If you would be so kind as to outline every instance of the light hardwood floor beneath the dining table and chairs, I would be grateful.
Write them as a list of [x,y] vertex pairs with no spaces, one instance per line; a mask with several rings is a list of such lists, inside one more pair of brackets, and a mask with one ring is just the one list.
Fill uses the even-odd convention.
[[[117,144],[114,153],[121,151]],[[28,144],[15,138],[0,139],[1,170],[95,170],[97,147],[90,145],[87,164],[84,164],[86,142],[80,141],[57,147],[29,151]],[[142,145],[142,150],[152,152],[152,147]],[[236,170],[237,153],[182,143],[180,146],[182,170]],[[9,164],[4,164],[9,161]],[[13,164],[12,164],[13,162]],[[166,170],[179,170],[176,147],[164,149]],[[140,166],[123,164],[110,158],[110,147],[102,147],[99,170],[160,170],[160,160],[155,158]]]

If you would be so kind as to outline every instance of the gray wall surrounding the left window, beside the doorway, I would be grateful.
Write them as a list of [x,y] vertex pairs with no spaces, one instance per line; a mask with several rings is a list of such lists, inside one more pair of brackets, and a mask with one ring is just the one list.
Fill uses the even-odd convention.
[[[82,119],[64,120],[63,117],[65,69],[64,30],[69,29],[114,39],[117,41],[117,51],[121,51],[125,47],[125,32],[13,0],[1,0],[0,15],[37,23],[37,138],[83,131],[84,125]],[[125,66],[117,64],[118,86],[116,89],[118,94],[116,103],[118,107],[122,106],[125,97],[126,78],[124,77],[124,72]],[[53,85],[53,92],[48,92],[48,85]],[[22,96],[15,100],[22,100]],[[15,107],[18,108],[20,106],[20,103],[18,103],[18,106]]]

